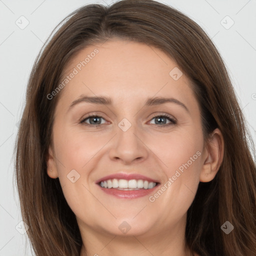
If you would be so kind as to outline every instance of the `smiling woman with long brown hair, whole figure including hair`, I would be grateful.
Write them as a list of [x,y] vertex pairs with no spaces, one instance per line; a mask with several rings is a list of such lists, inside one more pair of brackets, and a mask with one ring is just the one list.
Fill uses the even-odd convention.
[[256,255],[249,142],[190,18],[152,0],[77,9],[35,61],[18,132],[35,254]]

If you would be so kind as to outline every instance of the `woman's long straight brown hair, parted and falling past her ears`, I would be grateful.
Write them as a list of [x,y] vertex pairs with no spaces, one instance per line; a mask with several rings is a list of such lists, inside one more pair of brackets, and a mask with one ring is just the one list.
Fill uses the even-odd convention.
[[[204,138],[216,127],[223,134],[219,171],[212,181],[199,183],[187,212],[187,246],[202,256],[255,255],[254,146],[224,63],[207,34],[180,11],[153,0],[85,5],[56,29],[33,65],[15,151],[22,218],[35,254],[78,256],[82,244],[58,178],[46,173],[53,113],[61,91],[51,100],[46,95],[56,88],[75,53],[117,37],[157,47],[172,58],[191,81]],[[220,228],[227,220],[234,226],[229,234]]]

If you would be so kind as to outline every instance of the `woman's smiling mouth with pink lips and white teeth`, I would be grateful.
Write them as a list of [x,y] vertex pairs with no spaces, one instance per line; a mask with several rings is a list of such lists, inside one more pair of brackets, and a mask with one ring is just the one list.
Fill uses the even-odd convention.
[[131,199],[151,193],[160,183],[139,174],[117,173],[96,181],[96,184],[107,194]]

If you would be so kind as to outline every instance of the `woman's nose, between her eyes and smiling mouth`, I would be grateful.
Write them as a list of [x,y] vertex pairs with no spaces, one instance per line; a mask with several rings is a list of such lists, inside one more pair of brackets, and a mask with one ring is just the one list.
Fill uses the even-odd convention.
[[148,157],[148,150],[141,132],[132,124],[126,131],[117,127],[109,157],[111,160],[130,164],[133,161],[145,160]]

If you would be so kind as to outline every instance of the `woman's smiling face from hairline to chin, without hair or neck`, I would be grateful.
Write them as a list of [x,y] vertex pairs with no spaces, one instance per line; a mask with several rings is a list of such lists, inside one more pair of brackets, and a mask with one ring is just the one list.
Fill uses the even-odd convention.
[[48,175],[59,178],[79,227],[114,235],[178,228],[203,166],[188,78],[159,49],[117,39],[81,50],[65,77]]

